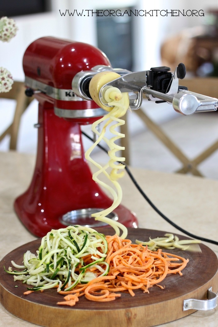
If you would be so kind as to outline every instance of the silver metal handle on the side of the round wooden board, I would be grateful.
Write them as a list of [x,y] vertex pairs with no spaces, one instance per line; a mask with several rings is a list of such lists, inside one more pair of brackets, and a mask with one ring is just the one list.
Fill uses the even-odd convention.
[[188,299],[183,301],[183,311],[194,310],[211,310],[217,306],[217,294],[212,292],[212,287],[208,289],[208,300]]

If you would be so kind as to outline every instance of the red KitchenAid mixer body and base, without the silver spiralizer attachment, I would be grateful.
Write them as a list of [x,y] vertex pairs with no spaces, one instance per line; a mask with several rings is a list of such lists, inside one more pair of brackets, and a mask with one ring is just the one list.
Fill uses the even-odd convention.
[[[96,65],[110,66],[110,62],[99,49],[85,43],[43,37],[25,51],[26,94],[34,94],[39,101],[38,148],[32,181],[16,198],[14,208],[36,236],[66,225],[101,227],[104,223],[91,218],[91,213],[112,203],[92,180],[80,129],[106,112],[72,91],[73,77]],[[135,215],[123,205],[110,218],[137,227]]]

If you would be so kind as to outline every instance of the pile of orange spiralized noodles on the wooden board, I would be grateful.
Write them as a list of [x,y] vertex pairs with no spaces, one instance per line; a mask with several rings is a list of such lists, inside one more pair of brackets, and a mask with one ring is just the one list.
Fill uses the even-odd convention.
[[[189,259],[162,252],[152,251],[141,244],[132,244],[118,235],[106,236],[108,252],[105,262],[109,264],[107,276],[96,277],[88,284],[77,284],[71,291],[59,291],[64,294],[64,301],[59,305],[74,306],[80,296],[90,301],[106,302],[121,297],[120,292],[135,296],[135,290],[149,293],[149,288],[160,285],[168,274],[182,275]],[[92,269],[94,272],[96,268]]]

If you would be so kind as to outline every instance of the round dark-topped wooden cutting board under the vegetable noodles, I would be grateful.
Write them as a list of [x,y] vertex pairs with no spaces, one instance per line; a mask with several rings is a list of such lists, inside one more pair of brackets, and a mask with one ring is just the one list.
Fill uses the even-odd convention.
[[[113,234],[112,229],[102,229],[100,232]],[[164,236],[165,232],[129,229],[128,238],[135,243],[136,239],[148,240],[151,237]],[[179,239],[187,237],[178,235]],[[187,267],[179,274],[168,275],[158,286],[149,289],[150,293],[141,290],[135,292],[135,297],[122,293],[121,297],[111,302],[93,302],[80,297],[74,307],[59,306],[63,296],[56,289],[45,290],[23,295],[26,285],[13,281],[13,275],[4,271],[8,269],[11,260],[22,264],[23,255],[27,250],[35,253],[41,240],[27,243],[10,253],[0,262],[0,298],[2,305],[12,314],[26,321],[47,327],[150,327],[173,321],[194,312],[183,311],[183,301],[190,298],[206,300],[208,289],[218,290],[218,260],[215,253],[207,246],[200,244],[201,252],[171,250],[179,256],[189,258]],[[163,250],[170,252],[169,250]],[[15,287],[18,285],[18,287]]]

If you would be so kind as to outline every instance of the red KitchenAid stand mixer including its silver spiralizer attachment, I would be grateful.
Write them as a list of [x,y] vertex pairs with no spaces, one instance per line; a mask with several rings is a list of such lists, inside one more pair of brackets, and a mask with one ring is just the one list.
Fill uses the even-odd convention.
[[[185,76],[183,64],[174,74],[165,66],[136,73],[113,69],[99,49],[85,43],[40,38],[26,49],[23,67],[26,95],[39,101],[38,148],[32,181],[15,200],[14,208],[26,228],[37,236],[66,225],[104,226],[91,214],[113,202],[92,180],[81,139],[80,126],[92,124],[107,113],[89,93],[95,74],[111,70],[121,76],[100,89],[103,106],[109,107],[104,92],[111,86],[128,92],[133,110],[140,108],[143,94],[157,103],[172,103],[185,115],[214,111],[218,106],[217,99],[178,85],[178,79]],[[121,204],[109,218],[126,227],[137,227],[135,214]]]

